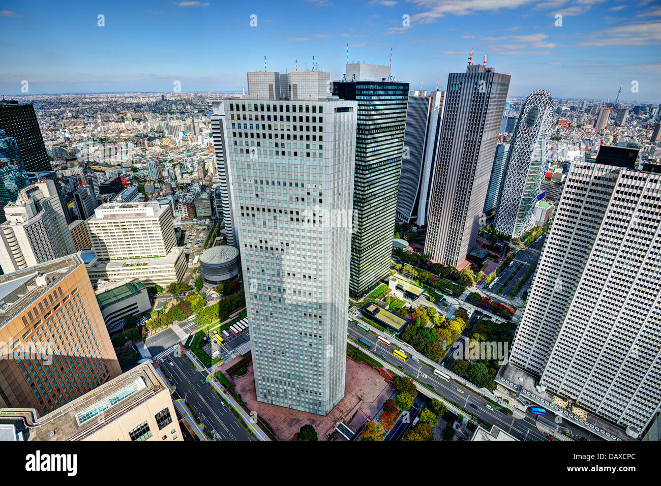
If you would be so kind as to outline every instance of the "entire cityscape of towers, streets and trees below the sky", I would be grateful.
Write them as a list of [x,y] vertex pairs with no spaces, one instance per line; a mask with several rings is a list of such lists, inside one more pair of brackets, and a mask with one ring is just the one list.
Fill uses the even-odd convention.
[[2,99],[0,439],[659,440],[661,104],[472,56]]

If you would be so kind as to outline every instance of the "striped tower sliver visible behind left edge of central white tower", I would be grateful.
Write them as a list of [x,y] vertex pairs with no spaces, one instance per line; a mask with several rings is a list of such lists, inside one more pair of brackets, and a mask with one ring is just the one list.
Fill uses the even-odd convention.
[[[223,215],[221,223],[225,226],[225,239],[227,245],[236,246],[237,228],[234,225],[234,217],[232,214],[231,192],[232,187],[229,183],[231,181],[231,174],[229,173],[229,166],[227,165],[227,120],[225,119],[225,104],[223,100],[212,100],[214,114],[211,116],[211,130],[214,140],[215,151],[215,167],[218,173],[218,181],[220,182],[220,206],[222,211],[217,211],[218,217]],[[216,196],[217,197],[217,196]]]

